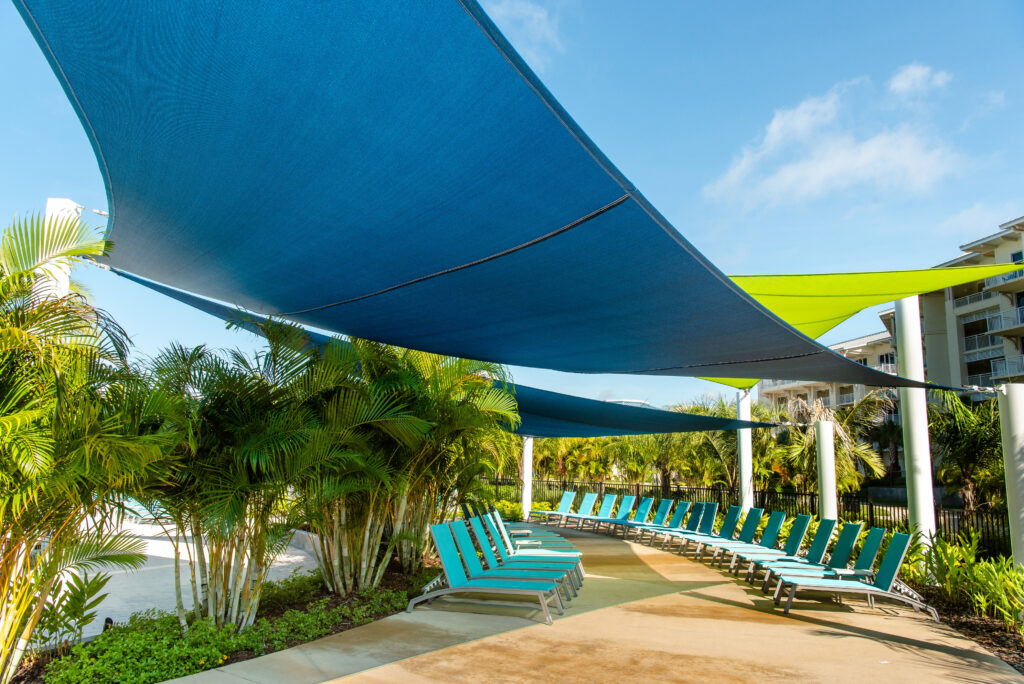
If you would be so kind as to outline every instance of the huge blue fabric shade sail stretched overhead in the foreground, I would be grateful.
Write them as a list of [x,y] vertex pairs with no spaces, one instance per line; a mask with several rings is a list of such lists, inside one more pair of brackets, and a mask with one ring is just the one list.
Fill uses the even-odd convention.
[[111,264],[303,326],[579,373],[920,386],[733,285],[472,0],[15,0]]

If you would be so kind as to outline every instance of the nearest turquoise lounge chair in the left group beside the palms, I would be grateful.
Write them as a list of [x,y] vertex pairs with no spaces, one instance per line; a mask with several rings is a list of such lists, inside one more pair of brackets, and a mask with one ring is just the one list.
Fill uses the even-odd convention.
[[452,529],[443,523],[430,525],[430,535],[434,538],[434,546],[441,559],[441,569],[447,587],[417,596],[409,602],[406,612],[413,612],[417,603],[433,601],[439,596],[449,594],[508,594],[532,597],[540,602],[541,610],[544,611],[544,621],[548,625],[552,624],[551,610],[548,608],[550,603],[554,602],[559,614],[565,612],[561,596],[558,594],[559,585],[557,582],[521,582],[495,578],[470,580],[462,567],[462,559],[459,558],[459,550],[456,548]]

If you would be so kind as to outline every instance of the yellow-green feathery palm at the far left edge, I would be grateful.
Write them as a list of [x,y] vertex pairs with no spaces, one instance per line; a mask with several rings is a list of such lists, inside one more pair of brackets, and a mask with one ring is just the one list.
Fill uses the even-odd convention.
[[127,336],[48,283],[108,246],[76,219],[33,217],[0,240],[0,682],[16,673],[68,573],[136,567],[119,501],[159,469],[159,401],[125,368]]

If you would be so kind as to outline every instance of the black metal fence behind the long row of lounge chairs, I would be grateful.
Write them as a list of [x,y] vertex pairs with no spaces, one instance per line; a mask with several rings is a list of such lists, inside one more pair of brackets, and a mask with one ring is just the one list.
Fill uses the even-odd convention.
[[[498,479],[490,482],[495,498],[519,501],[522,498],[522,482],[518,479]],[[587,480],[534,480],[534,501],[558,503],[562,491],[570,489],[579,494],[596,493],[651,497],[659,501],[663,497],[658,484],[629,484],[626,482],[591,482]],[[671,498],[681,501],[713,501],[720,507],[739,503],[739,494],[725,487],[683,486],[673,484]],[[656,504],[655,501],[655,504]],[[818,495],[802,491],[755,491],[754,504],[769,511],[785,511],[788,515],[806,513],[814,515],[818,510]],[[870,526],[890,529],[906,529],[909,514],[904,504],[877,502],[863,495],[845,495],[839,498],[839,514],[846,520],[863,520]],[[988,555],[1011,554],[1010,520],[1006,513],[992,511],[969,512],[958,508],[935,508],[935,525],[939,537],[952,541],[956,535],[969,529],[978,532],[981,549]]]

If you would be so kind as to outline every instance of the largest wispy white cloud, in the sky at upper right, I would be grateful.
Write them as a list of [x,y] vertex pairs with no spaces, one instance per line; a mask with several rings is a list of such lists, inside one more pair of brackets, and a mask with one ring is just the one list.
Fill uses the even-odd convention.
[[863,82],[840,83],[776,110],[761,137],[705,186],[705,196],[748,208],[777,206],[858,186],[924,193],[953,173],[959,155],[909,123],[867,133],[844,128],[840,115],[847,91]]

